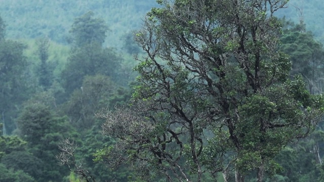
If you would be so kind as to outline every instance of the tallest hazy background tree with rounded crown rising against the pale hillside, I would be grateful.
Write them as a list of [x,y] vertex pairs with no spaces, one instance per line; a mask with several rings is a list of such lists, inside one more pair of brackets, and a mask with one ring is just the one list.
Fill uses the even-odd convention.
[[93,13],[76,18],[70,30],[72,49],[61,77],[67,95],[82,86],[86,75],[115,76],[120,58],[113,49],[103,48],[107,26]]

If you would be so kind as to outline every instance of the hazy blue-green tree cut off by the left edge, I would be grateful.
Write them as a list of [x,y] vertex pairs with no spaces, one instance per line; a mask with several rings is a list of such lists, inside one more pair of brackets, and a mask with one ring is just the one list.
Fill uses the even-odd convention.
[[16,41],[0,41],[0,114],[8,133],[15,129],[13,119],[17,115],[18,105],[26,98],[25,48],[24,44]]

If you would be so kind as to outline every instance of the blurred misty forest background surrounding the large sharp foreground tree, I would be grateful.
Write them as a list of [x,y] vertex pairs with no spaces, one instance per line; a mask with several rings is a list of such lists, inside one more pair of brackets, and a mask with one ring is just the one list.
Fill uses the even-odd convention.
[[[324,4],[288,5],[277,12],[285,17],[279,49],[291,56],[292,74],[301,73],[309,91],[321,94]],[[154,0],[0,0],[0,181],[78,181],[55,159],[65,138],[75,139],[76,161],[97,181],[136,180],[126,166],[112,171],[93,161],[96,150],[114,143],[94,114],[131,98],[132,55],[142,54],[132,31],[155,6]],[[320,123],[276,157],[283,170],[266,181],[320,181],[323,155]]]

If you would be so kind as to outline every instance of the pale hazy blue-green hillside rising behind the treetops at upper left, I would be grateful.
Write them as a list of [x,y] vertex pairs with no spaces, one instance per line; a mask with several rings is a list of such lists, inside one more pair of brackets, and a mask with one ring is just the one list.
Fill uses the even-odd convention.
[[145,13],[154,6],[154,0],[2,0],[0,14],[7,22],[7,36],[10,38],[48,36],[53,41],[66,44],[73,19],[92,11],[108,25],[106,44],[120,48],[120,38],[139,28]]

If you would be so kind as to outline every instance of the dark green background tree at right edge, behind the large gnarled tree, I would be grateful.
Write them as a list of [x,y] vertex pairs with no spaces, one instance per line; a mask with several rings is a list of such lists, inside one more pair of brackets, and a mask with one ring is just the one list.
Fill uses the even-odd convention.
[[315,40],[312,32],[306,32],[305,24],[294,24],[282,20],[284,35],[280,50],[290,55],[293,62],[292,74],[301,73],[308,83],[309,92],[322,93],[324,49]]

